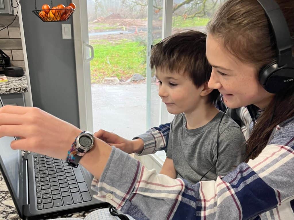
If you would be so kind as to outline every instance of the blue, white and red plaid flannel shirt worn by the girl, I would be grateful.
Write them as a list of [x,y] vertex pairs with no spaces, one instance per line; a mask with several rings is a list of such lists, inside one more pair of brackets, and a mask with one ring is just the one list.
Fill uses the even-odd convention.
[[[223,110],[225,106],[218,106]],[[245,137],[262,111],[255,106],[228,109]],[[169,124],[138,136],[142,154],[162,150]],[[260,155],[216,181],[191,184],[147,170],[113,147],[100,177],[93,179],[96,198],[135,219],[294,219],[294,119],[277,126]],[[111,194],[111,196],[109,196]]]

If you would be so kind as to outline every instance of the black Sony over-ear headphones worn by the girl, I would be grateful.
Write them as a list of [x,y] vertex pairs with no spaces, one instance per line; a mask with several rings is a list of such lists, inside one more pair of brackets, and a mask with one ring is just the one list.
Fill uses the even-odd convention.
[[270,93],[279,93],[294,83],[292,40],[286,19],[274,0],[257,0],[263,7],[275,35],[277,62],[262,67],[259,82]]

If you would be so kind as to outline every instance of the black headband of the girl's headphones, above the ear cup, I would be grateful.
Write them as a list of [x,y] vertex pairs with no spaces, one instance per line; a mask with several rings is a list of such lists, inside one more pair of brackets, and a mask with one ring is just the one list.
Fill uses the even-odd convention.
[[273,28],[277,48],[278,66],[292,61],[292,40],[287,21],[279,5],[274,0],[257,0],[263,7]]

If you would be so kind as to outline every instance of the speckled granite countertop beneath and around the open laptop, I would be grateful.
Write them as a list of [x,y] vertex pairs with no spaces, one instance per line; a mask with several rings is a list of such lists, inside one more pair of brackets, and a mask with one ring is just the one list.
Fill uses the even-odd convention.
[[[24,151],[23,153],[26,153],[26,151]],[[84,217],[87,214],[89,214],[91,211],[94,211],[94,210],[96,209],[81,211],[79,213],[67,214],[61,217],[62,218],[73,217],[73,218],[84,219]],[[16,211],[16,208],[10,196],[9,190],[6,187],[6,183],[3,179],[1,172],[0,172],[0,220],[21,220],[21,218],[19,218],[19,215]]]

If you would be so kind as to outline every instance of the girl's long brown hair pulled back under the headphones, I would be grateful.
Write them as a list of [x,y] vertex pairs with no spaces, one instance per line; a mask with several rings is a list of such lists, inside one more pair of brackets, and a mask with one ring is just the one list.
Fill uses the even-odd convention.
[[[291,38],[294,40],[293,1],[276,0],[276,2],[286,18]],[[244,63],[254,65],[256,77],[261,67],[277,59],[273,31],[262,6],[256,0],[226,1],[208,23],[207,31],[221,37],[224,42],[223,47],[232,55]],[[294,57],[293,46],[292,52]],[[258,118],[247,141],[249,159],[256,158],[265,148],[275,126],[294,116],[293,94],[294,85],[276,94]]]

